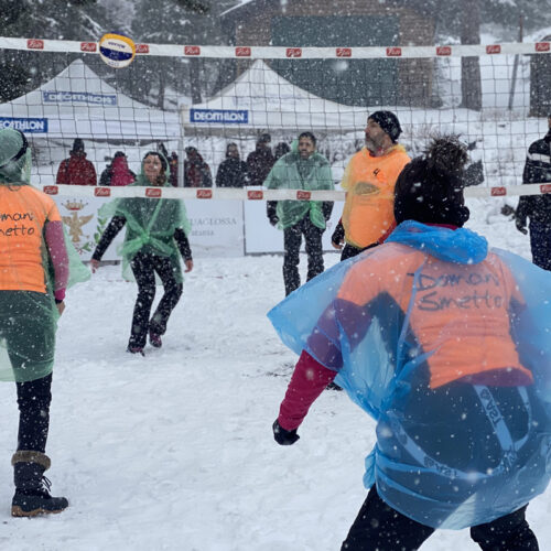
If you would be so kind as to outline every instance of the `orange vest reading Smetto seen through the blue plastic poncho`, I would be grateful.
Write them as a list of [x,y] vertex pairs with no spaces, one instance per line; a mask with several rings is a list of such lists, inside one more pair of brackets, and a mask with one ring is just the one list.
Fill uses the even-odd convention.
[[338,298],[364,306],[388,294],[406,313],[413,274],[423,262],[409,328],[422,352],[432,352],[426,360],[431,388],[495,370],[511,377],[516,371],[531,381],[510,336],[510,303],[523,300],[509,269],[494,253],[477,264],[458,264],[387,244],[350,268]]

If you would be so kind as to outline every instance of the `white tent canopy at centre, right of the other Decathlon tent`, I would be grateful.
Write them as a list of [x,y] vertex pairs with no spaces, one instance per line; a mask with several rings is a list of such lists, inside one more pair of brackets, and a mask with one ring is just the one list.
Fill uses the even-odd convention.
[[363,128],[367,109],[320,98],[294,86],[262,60],[203,104],[181,106],[187,129],[346,130]]

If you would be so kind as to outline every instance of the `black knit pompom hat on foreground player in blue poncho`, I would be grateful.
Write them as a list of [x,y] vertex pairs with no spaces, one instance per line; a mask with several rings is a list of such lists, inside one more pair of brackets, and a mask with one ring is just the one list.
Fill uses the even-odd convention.
[[395,187],[395,218],[463,226],[469,217],[463,196],[467,148],[456,136],[434,138],[424,155],[404,166]]

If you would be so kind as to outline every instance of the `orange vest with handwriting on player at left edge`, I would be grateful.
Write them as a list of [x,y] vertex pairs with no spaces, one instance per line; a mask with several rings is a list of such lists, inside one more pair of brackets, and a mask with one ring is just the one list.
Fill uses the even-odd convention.
[[30,185],[0,185],[0,290],[46,292],[43,230],[57,207]]

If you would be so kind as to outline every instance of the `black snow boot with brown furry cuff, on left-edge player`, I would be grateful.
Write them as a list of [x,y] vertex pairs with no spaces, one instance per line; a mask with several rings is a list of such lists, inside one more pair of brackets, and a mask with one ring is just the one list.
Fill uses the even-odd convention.
[[44,471],[50,468],[50,457],[42,452],[22,450],[11,458],[15,495],[11,501],[12,517],[61,512],[68,506],[64,497],[50,495],[50,480]]

